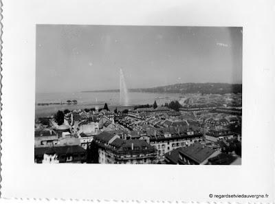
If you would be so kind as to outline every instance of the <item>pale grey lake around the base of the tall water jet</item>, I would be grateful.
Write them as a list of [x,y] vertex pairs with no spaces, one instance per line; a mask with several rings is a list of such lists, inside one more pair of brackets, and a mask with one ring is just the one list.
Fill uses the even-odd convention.
[[[65,109],[91,109],[103,108],[104,103],[113,111],[116,107],[119,111],[124,109],[133,109],[137,104],[153,104],[155,101],[157,105],[171,102],[173,100],[180,100],[179,97],[186,96],[179,93],[143,93],[130,92],[129,105],[124,106],[120,104],[119,92],[74,92],[74,93],[36,93],[36,117],[48,117],[57,111],[64,111]],[[67,104],[67,100],[77,100],[77,104]],[[65,103],[65,104],[50,104],[38,105],[39,103]]]

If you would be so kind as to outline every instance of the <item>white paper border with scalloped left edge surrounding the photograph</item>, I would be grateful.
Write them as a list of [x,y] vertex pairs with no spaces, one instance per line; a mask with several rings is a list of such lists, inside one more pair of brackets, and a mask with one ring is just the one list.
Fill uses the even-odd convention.
[[[2,196],[274,201],[274,14],[274,1],[4,0]],[[36,24],[243,27],[242,166],[34,164]],[[215,200],[209,194],[269,199]]]

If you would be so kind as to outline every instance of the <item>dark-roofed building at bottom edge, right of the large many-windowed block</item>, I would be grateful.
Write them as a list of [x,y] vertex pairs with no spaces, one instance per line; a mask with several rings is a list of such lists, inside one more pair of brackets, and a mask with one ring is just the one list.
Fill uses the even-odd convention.
[[208,159],[216,157],[220,153],[202,144],[192,144],[179,150],[178,161],[183,165],[204,165],[208,163]]

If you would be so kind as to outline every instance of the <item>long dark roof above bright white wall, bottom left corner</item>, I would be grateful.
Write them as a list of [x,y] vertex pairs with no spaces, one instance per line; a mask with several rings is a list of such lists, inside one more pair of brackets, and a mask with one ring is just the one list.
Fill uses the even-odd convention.
[[85,153],[85,152],[86,150],[78,145],[34,148],[34,156],[43,156],[45,153],[47,154],[56,153],[56,155],[66,155],[66,154]]

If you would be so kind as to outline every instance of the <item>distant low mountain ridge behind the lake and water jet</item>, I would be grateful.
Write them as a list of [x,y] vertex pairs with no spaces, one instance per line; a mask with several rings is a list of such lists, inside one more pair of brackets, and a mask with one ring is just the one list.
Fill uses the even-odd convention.
[[[83,92],[119,92],[120,89],[111,89],[104,91],[83,91]],[[130,92],[146,93],[203,93],[203,94],[225,94],[242,93],[242,84],[227,83],[181,83],[171,84],[162,87],[129,89]]]

